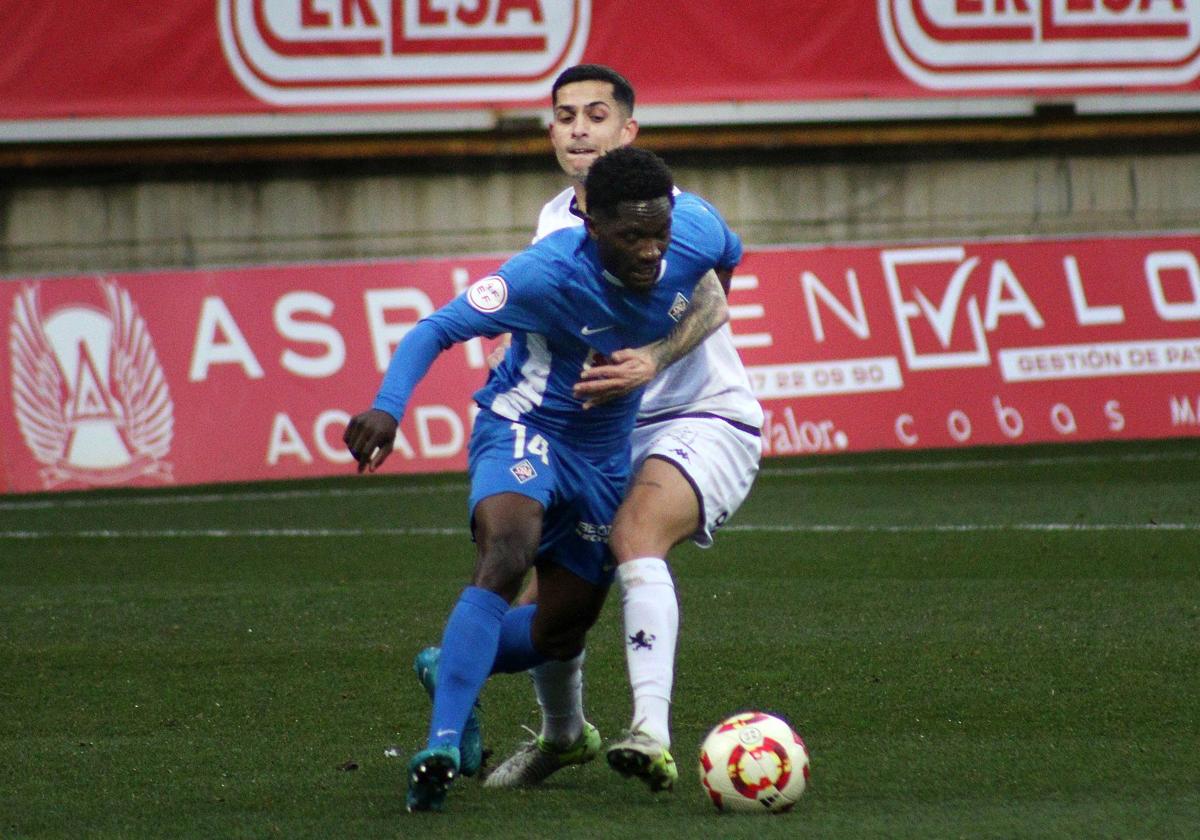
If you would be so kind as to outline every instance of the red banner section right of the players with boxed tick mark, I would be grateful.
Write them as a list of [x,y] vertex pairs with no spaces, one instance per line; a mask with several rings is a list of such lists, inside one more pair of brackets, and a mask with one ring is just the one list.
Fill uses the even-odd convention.
[[731,302],[767,452],[1198,434],[1198,254],[1195,235],[751,252],[754,302]]

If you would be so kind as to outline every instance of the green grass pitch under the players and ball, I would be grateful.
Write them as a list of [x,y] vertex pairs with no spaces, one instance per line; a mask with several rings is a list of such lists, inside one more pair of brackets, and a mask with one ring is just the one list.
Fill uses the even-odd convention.
[[[602,761],[403,811],[462,475],[0,498],[0,838],[1195,838],[1200,440],[773,460],[677,550],[680,784]],[[590,719],[628,724],[618,599]],[[493,678],[485,738],[536,726]],[[788,716],[812,786],[719,815],[697,745]]]

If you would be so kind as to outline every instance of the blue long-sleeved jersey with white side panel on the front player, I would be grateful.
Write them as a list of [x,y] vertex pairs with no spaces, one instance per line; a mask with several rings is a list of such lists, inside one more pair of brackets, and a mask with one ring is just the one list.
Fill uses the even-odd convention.
[[571,395],[581,371],[596,354],[665,337],[700,278],[740,256],[738,236],[691,193],[676,198],[662,274],[647,293],[629,292],[605,272],[583,228],[556,232],[421,319],[396,348],[374,408],[400,419],[438,353],[476,336],[511,332],[504,362],[475,401],[581,454],[624,448],[641,394],[584,412]]

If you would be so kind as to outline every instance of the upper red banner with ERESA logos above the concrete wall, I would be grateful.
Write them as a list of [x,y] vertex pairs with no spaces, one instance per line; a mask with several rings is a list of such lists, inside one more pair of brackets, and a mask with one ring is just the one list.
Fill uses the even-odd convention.
[[1013,96],[1200,100],[1200,0],[0,0],[0,19],[10,140],[79,137],[58,121],[80,120],[106,121],[103,137],[181,118],[198,120],[184,134],[353,131],[254,122],[346,112],[491,128],[544,108],[581,61],[626,73],[660,124],[796,119],[803,103],[828,120],[989,113]]

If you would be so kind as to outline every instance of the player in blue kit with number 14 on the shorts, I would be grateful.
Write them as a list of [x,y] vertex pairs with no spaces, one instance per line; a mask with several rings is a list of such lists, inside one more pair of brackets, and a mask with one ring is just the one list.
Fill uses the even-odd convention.
[[[641,389],[584,403],[574,392],[581,372],[647,344],[661,370],[728,318],[713,269],[730,264],[740,241],[703,199],[674,194],[656,155],[613,150],[590,167],[587,191],[583,228],[540,240],[404,336],[372,408],[343,436],[360,473],[378,469],[437,355],[476,336],[512,335],[474,397],[474,574],[440,654],[416,662],[433,713],[408,767],[410,811],[442,810],[460,772],[479,770],[473,707],[487,677],[575,658],[612,583],[606,539],[629,479]],[[533,565],[538,604],[510,608]]]

